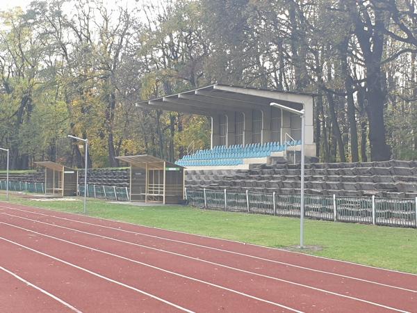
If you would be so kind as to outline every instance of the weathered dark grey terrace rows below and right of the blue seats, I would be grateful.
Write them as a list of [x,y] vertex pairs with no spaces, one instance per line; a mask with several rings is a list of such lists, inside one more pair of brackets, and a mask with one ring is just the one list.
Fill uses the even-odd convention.
[[[384,161],[368,163],[309,163],[305,170],[306,193],[385,198],[417,196],[417,163]],[[187,188],[300,193],[300,164],[259,166],[250,170],[188,170]]]

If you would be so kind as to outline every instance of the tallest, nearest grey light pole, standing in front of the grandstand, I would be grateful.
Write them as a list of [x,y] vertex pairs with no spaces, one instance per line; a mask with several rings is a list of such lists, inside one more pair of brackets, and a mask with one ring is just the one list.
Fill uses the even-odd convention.
[[[276,108],[295,113],[301,116],[301,203],[300,203],[300,248],[304,248],[304,139],[305,139],[305,129],[306,129],[306,120],[304,115],[304,109],[301,111],[295,110],[288,106],[283,106],[282,104],[277,104],[271,102],[270,106],[275,106]],[[295,159],[295,155],[294,155]]]

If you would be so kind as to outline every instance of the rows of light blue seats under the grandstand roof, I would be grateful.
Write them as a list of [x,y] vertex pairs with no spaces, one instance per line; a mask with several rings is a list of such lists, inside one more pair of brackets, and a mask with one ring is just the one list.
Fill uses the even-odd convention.
[[290,145],[300,144],[301,141],[291,141],[284,145],[279,143],[251,143],[230,147],[222,145],[186,155],[176,163],[179,166],[235,166],[243,164],[243,159],[269,157],[272,152],[281,152]]

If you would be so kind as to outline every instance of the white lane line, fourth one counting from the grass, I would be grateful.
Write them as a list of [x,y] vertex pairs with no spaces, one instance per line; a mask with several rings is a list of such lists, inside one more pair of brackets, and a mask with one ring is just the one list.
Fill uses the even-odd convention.
[[[35,232],[34,230],[28,230],[27,228],[19,227],[17,225],[5,223],[5,222],[0,222],[0,224],[4,224],[4,225],[11,226],[11,227],[15,227],[15,228],[18,228],[20,230],[25,230],[26,232],[32,232],[33,234],[39,234],[41,236],[45,236],[45,237],[48,237],[48,238],[51,238],[51,239],[55,239],[55,240],[58,240],[58,241],[63,241],[65,243],[70,243],[70,244],[72,244],[74,246],[78,246],[78,247],[85,248],[85,249],[88,249],[88,250],[93,250],[93,251],[96,251],[96,252],[100,252],[100,253],[103,253],[105,255],[111,255],[112,257],[117,257],[119,259],[124,259],[126,261],[133,262],[133,263],[136,263],[136,264],[140,264],[140,265],[143,265],[143,266],[147,266],[149,268],[154,268],[154,269],[156,269],[158,271],[163,271],[165,273],[169,273],[169,274],[172,274],[172,275],[176,275],[176,276],[179,276],[181,278],[186,278],[188,280],[193,280],[195,282],[201,282],[202,284],[207,284],[207,285],[209,285],[211,287],[215,287],[215,288],[223,289],[223,290],[226,290],[226,291],[230,291],[230,292],[232,292],[234,294],[238,294],[240,296],[245,296],[247,298],[252,298],[254,300],[258,300],[258,301],[261,301],[261,302],[265,302],[265,303],[268,303],[268,304],[271,304],[271,305],[276,305],[276,306],[281,307],[281,308],[286,309],[286,310],[291,310],[293,312],[301,312],[301,311],[295,310],[295,309],[293,309],[291,307],[287,307],[286,305],[281,305],[280,303],[275,303],[275,302],[272,302],[270,300],[265,300],[265,299],[262,299],[262,298],[258,298],[256,296],[251,296],[250,294],[245,294],[243,292],[240,292],[240,291],[237,291],[237,290],[234,290],[234,289],[230,289],[230,288],[227,288],[227,287],[223,287],[223,286],[220,286],[218,284],[213,284],[211,282],[206,282],[205,280],[199,280],[197,278],[192,278],[192,277],[187,276],[187,275],[182,275],[180,273],[176,273],[176,272],[173,272],[173,271],[169,271],[169,270],[166,270],[164,268],[160,268],[158,266],[154,266],[152,264],[147,264],[147,263],[144,263],[144,262],[140,262],[140,261],[137,261],[135,259],[129,259],[129,257],[123,257],[122,255],[115,255],[115,254],[113,254],[111,252],[106,252],[104,250],[99,250],[97,248],[92,248],[90,246],[84,246],[84,245],[81,245],[79,243],[75,243],[73,241],[67,241],[65,239],[61,239],[61,238],[58,238],[58,237],[55,237],[55,236],[50,236],[48,234],[42,234],[41,232]],[[400,312],[403,312],[403,311],[400,311]]]

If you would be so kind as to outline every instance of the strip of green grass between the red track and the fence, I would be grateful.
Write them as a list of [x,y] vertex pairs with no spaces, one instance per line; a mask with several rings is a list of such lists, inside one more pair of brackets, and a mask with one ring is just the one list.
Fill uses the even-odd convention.
[[[0,195],[0,200],[4,200]],[[10,202],[81,213],[82,201],[40,202],[16,198]],[[297,218],[208,211],[183,206],[136,207],[88,200],[88,214],[112,220],[215,236],[282,248],[299,243]],[[417,273],[417,230],[352,223],[306,220],[306,245],[321,246],[313,255]]]

